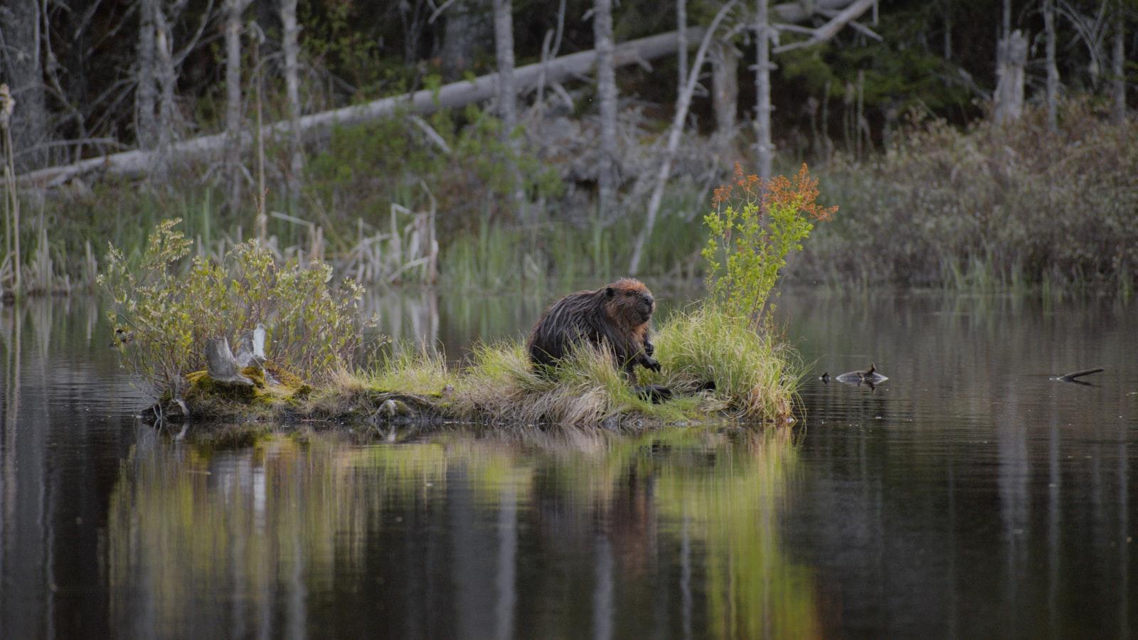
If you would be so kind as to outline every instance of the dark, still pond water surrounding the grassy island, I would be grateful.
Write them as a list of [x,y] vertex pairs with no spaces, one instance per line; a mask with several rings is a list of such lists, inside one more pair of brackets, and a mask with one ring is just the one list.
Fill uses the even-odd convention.
[[[543,301],[371,304],[456,356]],[[815,375],[890,380],[808,379],[793,430],[222,445],[135,424],[90,301],[5,307],[0,637],[1138,634],[1132,305],[780,315]]]

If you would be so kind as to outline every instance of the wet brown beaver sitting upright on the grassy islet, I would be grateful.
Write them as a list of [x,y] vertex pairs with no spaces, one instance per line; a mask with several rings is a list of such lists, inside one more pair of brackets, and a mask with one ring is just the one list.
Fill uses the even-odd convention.
[[641,364],[653,371],[649,323],[655,298],[640,280],[621,278],[596,290],[577,292],[553,303],[534,326],[526,344],[535,364],[554,364],[583,340],[607,346],[618,369],[632,375]]

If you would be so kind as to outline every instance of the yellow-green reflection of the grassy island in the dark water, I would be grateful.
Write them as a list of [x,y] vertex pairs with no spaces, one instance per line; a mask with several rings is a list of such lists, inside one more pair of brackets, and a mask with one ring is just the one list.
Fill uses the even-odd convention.
[[142,437],[110,499],[132,634],[815,635],[776,523],[787,433],[439,434],[239,451]]

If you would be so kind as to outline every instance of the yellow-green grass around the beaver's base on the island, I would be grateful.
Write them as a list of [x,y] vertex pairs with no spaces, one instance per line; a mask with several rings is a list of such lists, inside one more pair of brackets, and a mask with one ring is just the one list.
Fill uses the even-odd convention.
[[[427,350],[399,350],[376,370],[343,374],[327,407],[398,393],[431,402],[460,420],[510,425],[632,426],[732,418],[784,421],[799,378],[793,351],[768,333],[715,309],[674,314],[655,338],[661,374],[638,372],[635,384],[673,389],[667,402],[642,397],[608,352],[583,346],[545,374],[517,342],[475,347],[470,364],[451,369]],[[715,381],[714,391],[701,391]],[[379,395],[377,395],[379,394]],[[349,402],[336,402],[337,395]],[[327,412],[327,410],[325,410]]]

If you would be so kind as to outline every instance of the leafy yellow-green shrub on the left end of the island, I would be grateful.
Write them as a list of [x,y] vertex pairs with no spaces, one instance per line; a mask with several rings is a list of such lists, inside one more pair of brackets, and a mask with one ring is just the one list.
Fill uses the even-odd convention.
[[319,380],[351,360],[360,340],[360,287],[348,281],[333,289],[324,264],[278,266],[253,240],[222,263],[195,257],[189,272],[175,273],[191,245],[178,223],[155,228],[137,265],[109,247],[99,277],[124,362],[156,394],[180,395],[184,375],[205,368],[207,339],[232,344],[258,323],[267,329],[266,354],[284,370]]

